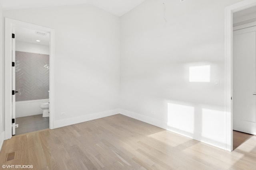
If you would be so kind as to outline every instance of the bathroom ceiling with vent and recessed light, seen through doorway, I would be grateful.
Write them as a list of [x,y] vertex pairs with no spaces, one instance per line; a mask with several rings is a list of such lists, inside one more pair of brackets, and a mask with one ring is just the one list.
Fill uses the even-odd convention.
[[[46,35],[38,35],[36,34],[36,30],[23,28],[23,27],[16,27],[15,39],[16,41],[24,41],[27,43],[49,45],[50,34],[46,33]],[[37,42],[36,40],[40,40],[40,42]]]

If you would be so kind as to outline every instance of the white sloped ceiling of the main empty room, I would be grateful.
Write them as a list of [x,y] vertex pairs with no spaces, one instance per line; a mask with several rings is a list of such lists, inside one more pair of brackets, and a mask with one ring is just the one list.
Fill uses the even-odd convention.
[[116,16],[122,16],[143,1],[144,0],[0,0],[4,10],[91,4]]

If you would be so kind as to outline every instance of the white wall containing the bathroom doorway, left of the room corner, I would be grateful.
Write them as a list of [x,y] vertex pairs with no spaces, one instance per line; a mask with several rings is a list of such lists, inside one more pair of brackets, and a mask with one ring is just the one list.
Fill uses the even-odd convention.
[[118,108],[120,18],[91,5],[7,10],[4,17],[55,29],[59,127],[62,120],[81,121],[81,116]]

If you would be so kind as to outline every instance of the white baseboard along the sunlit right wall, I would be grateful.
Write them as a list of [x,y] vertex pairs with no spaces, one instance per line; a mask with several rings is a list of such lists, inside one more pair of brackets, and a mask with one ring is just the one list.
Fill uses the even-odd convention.
[[218,147],[220,149],[226,150],[226,147],[225,147],[226,144],[220,143],[218,141],[214,141],[214,140],[211,140],[211,139],[207,139],[205,137],[202,137],[202,135],[200,135],[200,133],[192,134],[192,133],[182,131],[180,129],[175,129],[173,127],[169,127],[167,125],[167,122],[160,121],[160,120],[154,119],[152,117],[148,117],[148,116],[145,116],[145,115],[142,115],[142,114],[139,114],[139,113],[135,113],[135,112],[132,112],[132,111],[128,111],[128,110],[125,110],[125,109],[119,109],[119,113],[122,114],[122,115],[128,116],[128,117],[131,117],[133,119],[137,119],[139,121],[143,121],[145,123],[148,123],[148,124],[166,129],[168,131],[177,133],[179,135],[182,135],[182,136],[185,136],[185,137],[188,137],[188,138],[191,138],[191,139],[195,139],[197,141],[200,141],[200,142],[212,145],[214,147]]

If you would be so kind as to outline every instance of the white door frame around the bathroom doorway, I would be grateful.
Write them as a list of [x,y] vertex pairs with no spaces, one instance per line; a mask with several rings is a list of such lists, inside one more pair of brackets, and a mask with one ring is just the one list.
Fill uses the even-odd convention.
[[[25,27],[50,33],[50,129],[54,129],[54,29],[5,18],[5,139],[12,137],[12,29]],[[15,89],[14,89],[15,90]]]

